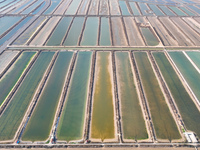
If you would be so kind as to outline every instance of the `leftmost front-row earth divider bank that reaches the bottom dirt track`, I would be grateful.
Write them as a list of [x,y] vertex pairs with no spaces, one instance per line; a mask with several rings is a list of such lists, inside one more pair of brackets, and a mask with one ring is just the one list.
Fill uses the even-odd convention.
[[53,58],[52,58],[52,60],[51,60],[51,62],[49,64],[46,72],[44,73],[44,76],[43,76],[42,80],[40,81],[40,83],[38,85],[37,91],[35,92],[34,97],[33,97],[32,101],[30,102],[30,104],[28,106],[28,109],[27,109],[27,111],[26,111],[26,113],[25,113],[25,115],[23,117],[23,120],[22,120],[22,122],[21,122],[21,124],[20,124],[20,126],[18,128],[18,131],[16,132],[16,135],[15,135],[15,139],[16,140],[21,140],[21,136],[23,134],[23,131],[26,128],[26,124],[28,123],[29,118],[31,117],[31,115],[32,115],[32,113],[33,113],[33,111],[34,111],[34,109],[35,109],[35,107],[37,105],[37,102],[39,100],[39,96],[41,95],[42,90],[43,90],[43,88],[44,88],[44,86],[45,86],[45,84],[47,82],[47,79],[48,79],[48,77],[49,77],[49,75],[51,73],[51,70],[52,70],[52,68],[53,68],[53,66],[55,64],[55,61],[56,61],[56,59],[58,57],[58,54],[59,54],[59,52],[56,51],[56,53],[54,54],[54,56],[53,56]]

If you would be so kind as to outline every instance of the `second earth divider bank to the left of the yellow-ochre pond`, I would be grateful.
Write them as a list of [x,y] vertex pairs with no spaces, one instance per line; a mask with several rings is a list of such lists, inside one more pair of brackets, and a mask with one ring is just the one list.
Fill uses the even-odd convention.
[[58,104],[58,107],[57,107],[57,111],[56,111],[56,114],[55,114],[55,117],[54,117],[54,122],[53,122],[51,133],[50,133],[50,136],[53,135],[53,137],[56,137],[57,124],[58,124],[59,118],[62,114],[63,107],[65,105],[65,100],[66,100],[71,76],[72,76],[72,73],[73,73],[73,70],[74,70],[74,66],[75,66],[75,62],[76,62],[76,58],[77,58],[77,53],[78,52],[73,53],[72,60],[71,60],[71,63],[70,63],[70,68],[69,68],[69,71],[66,75],[67,78],[66,78],[64,87],[62,89],[62,95],[61,95],[61,98],[60,98],[60,101],[59,101],[59,104]]

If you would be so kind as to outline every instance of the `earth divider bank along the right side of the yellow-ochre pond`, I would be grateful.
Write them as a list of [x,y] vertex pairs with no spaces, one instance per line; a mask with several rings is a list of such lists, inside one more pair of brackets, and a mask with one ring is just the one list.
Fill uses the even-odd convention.
[[117,85],[117,75],[116,75],[116,64],[115,64],[115,52],[112,51],[112,71],[113,71],[113,83],[114,83],[114,95],[115,95],[115,116],[116,117],[116,124],[117,124],[117,134],[118,134],[118,141],[120,143],[123,142],[122,139],[122,126],[121,126],[121,114],[120,114],[120,102],[118,96],[118,85]]

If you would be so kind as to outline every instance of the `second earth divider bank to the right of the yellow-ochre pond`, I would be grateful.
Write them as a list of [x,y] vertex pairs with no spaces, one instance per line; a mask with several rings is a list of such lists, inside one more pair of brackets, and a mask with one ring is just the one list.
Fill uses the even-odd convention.
[[137,86],[138,86],[138,89],[139,89],[139,94],[140,94],[140,98],[142,100],[142,104],[143,104],[143,110],[144,110],[144,114],[145,114],[145,120],[147,121],[147,131],[148,131],[148,134],[149,134],[149,138],[152,140],[152,142],[156,141],[156,134],[155,134],[155,130],[154,130],[154,126],[153,126],[153,123],[152,123],[152,119],[151,119],[151,114],[150,114],[150,110],[149,110],[149,106],[148,106],[148,103],[147,103],[147,99],[145,97],[145,93],[144,93],[144,90],[143,90],[143,86],[142,86],[142,83],[141,83],[141,79],[140,79],[140,75],[139,75],[139,71],[138,71],[138,68],[137,68],[137,64],[136,64],[136,61],[135,61],[135,58],[133,56],[133,53],[130,51],[130,57],[131,57],[131,62],[133,64],[133,68],[134,68],[134,71],[135,71],[135,76],[136,76],[136,79],[137,79]]

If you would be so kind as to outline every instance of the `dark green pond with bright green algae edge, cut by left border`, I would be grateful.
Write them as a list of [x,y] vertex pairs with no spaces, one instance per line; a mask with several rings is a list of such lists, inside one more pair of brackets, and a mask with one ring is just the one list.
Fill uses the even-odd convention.
[[23,52],[0,80],[0,106],[23,73],[35,52]]

